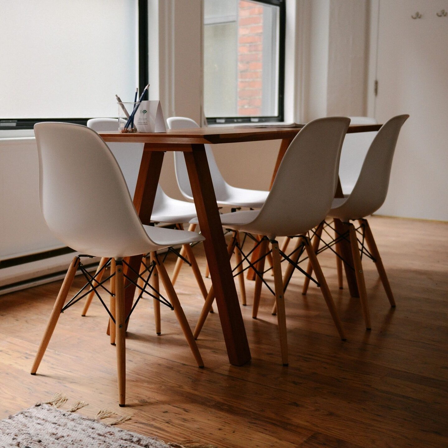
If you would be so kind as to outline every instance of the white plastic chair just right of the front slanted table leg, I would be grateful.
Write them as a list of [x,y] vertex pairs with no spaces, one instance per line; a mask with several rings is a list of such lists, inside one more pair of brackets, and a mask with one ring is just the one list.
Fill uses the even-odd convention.
[[[297,250],[304,247],[312,261],[322,295],[340,337],[345,339],[333,298],[316,255],[311,249],[307,232],[317,226],[330,210],[335,194],[341,146],[349,124],[349,118],[331,117],[314,120],[305,125],[289,145],[261,209],[221,215],[221,222],[225,228],[265,235],[260,244],[263,246],[267,246],[268,242],[271,244],[278,329],[284,365],[288,364],[286,316],[277,237],[298,235]],[[266,250],[261,248],[260,256],[265,253]],[[258,286],[261,288],[263,268],[264,265],[260,267],[258,263],[256,289]],[[213,297],[209,295],[200,320],[196,324],[195,338],[199,335],[212,302]],[[255,302],[256,298],[254,307]]]

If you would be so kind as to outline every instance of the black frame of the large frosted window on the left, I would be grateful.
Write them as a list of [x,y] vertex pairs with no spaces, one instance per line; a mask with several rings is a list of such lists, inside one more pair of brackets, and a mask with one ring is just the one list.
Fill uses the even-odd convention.
[[[138,1],[139,20],[139,91],[143,92],[149,83],[148,72],[148,0]],[[145,94],[148,96],[148,93]],[[144,98],[148,99],[148,98]],[[95,118],[95,117],[91,117]],[[33,129],[36,123],[42,121],[58,121],[63,123],[74,123],[77,125],[87,125],[90,118],[0,118],[0,131]]]

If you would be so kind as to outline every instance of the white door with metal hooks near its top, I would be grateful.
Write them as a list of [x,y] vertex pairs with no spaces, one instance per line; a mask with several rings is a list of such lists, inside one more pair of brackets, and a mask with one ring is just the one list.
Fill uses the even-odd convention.
[[379,3],[375,118],[410,118],[378,214],[448,220],[448,15],[436,15],[443,8],[448,1]]

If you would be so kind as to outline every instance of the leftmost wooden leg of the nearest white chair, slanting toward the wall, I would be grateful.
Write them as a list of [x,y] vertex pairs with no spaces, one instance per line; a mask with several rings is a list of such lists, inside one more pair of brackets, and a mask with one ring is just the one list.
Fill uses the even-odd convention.
[[69,294],[74,276],[76,275],[78,265],[79,265],[79,258],[74,257],[72,262],[70,263],[70,267],[67,273],[65,274],[64,281],[62,282],[61,289],[59,290],[59,294],[57,295],[56,302],[50,314],[50,319],[48,320],[47,328],[45,330],[45,333],[43,333],[42,341],[40,342],[39,349],[37,351],[33,366],[31,368],[31,375],[36,374],[37,369],[39,368],[39,364],[42,361],[45,350],[48,347],[48,343],[50,342],[51,336],[56,327],[59,316],[61,315],[61,310]]

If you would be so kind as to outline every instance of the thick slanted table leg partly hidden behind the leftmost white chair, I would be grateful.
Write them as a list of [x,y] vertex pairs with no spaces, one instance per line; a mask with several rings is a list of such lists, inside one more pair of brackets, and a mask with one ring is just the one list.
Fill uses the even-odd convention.
[[[157,185],[159,183],[160,171],[162,168],[163,151],[152,151],[154,145],[145,143],[142,160],[140,162],[139,177],[137,178],[137,185],[135,186],[134,193],[134,206],[135,210],[139,214],[139,218],[143,224],[149,224],[151,222],[152,206],[154,205],[154,198],[156,197]],[[142,261],[143,254],[135,255],[134,257],[125,258],[126,263],[134,269],[136,272],[140,272],[140,263]],[[126,266],[123,265],[123,274],[130,277],[135,282],[138,276]],[[129,280],[125,279],[125,313],[129,314],[132,308],[132,302],[134,302],[135,286],[129,284]],[[129,320],[126,322],[126,329],[129,324]],[[108,329],[108,334],[109,329]]]

